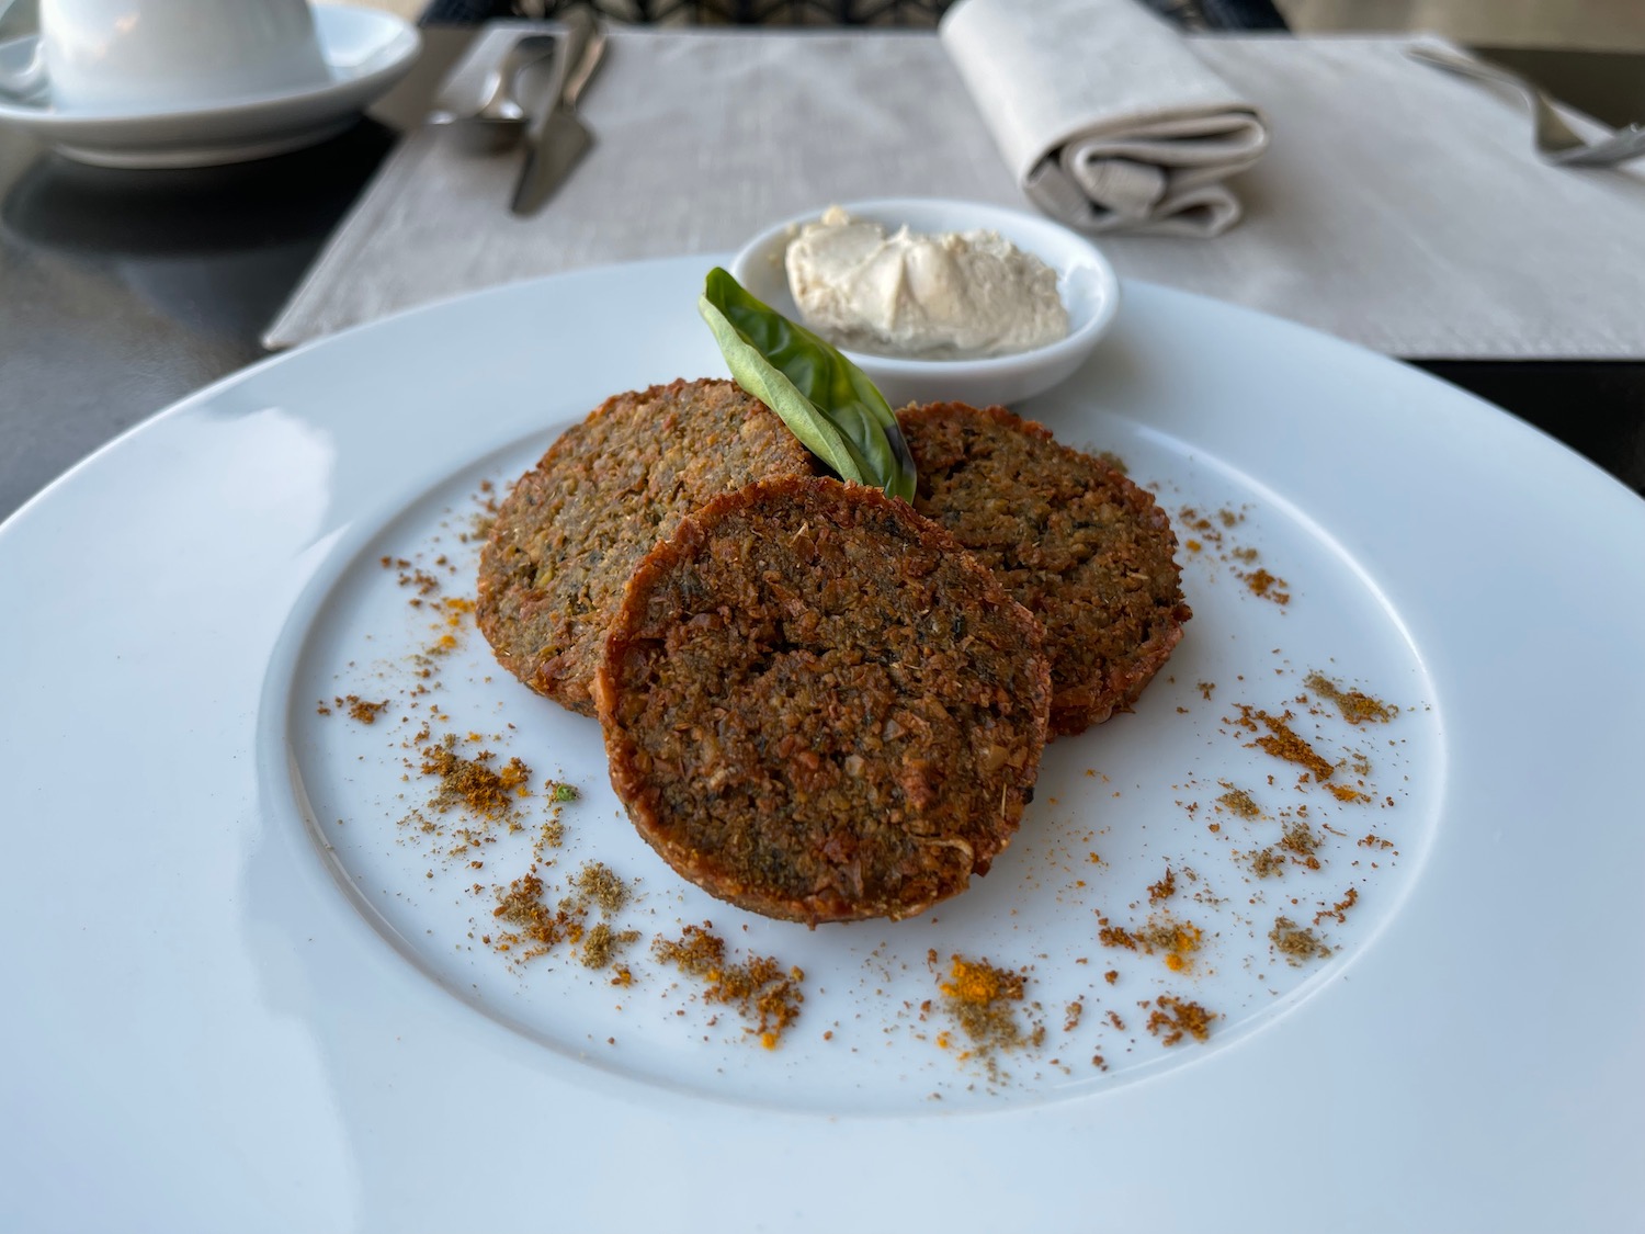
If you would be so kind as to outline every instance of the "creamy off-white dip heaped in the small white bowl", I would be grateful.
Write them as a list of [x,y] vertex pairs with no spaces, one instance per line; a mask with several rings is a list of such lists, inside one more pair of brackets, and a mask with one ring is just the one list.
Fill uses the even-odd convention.
[[788,245],[806,326],[882,355],[1010,355],[1068,336],[1056,271],[999,232],[923,235],[831,206]]

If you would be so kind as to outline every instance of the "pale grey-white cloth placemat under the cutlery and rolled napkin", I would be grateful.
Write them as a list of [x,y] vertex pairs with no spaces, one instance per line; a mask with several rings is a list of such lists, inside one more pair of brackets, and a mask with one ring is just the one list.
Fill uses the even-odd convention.
[[[459,69],[472,84],[508,30]],[[1421,359],[1645,359],[1645,178],[1538,163],[1520,104],[1402,39],[1188,46],[1273,130],[1212,239],[1114,235],[1122,275]],[[878,196],[1023,209],[952,61],[924,33],[612,35],[582,102],[599,145],[533,219],[518,155],[415,132],[268,331],[286,347],[462,291],[739,247],[773,219]]]

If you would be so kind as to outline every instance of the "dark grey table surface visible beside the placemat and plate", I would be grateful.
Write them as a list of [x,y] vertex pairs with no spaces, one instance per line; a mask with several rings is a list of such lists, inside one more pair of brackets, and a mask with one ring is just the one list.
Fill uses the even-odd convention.
[[[0,518],[118,433],[262,359],[260,332],[469,39],[426,33],[416,71],[357,127],[260,163],[99,169],[0,130]],[[1645,494],[1645,364],[1421,367]]]

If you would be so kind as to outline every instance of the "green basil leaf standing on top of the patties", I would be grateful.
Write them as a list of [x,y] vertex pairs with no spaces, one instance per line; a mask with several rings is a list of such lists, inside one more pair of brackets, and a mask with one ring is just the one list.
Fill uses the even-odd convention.
[[873,382],[832,344],[709,271],[697,311],[730,375],[841,479],[913,500],[915,456]]

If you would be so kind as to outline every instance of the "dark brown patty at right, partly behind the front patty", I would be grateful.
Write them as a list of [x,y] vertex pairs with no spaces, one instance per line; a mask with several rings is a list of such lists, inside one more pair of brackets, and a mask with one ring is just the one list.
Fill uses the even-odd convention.
[[920,467],[915,508],[1045,627],[1053,735],[1128,711],[1191,615],[1165,510],[1003,406],[929,403],[897,418]]

